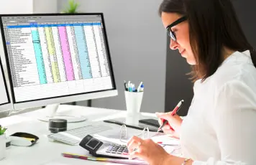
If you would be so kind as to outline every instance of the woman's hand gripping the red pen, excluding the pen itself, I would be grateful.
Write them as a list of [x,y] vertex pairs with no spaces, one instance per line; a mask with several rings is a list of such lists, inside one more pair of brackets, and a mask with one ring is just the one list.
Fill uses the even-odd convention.
[[167,133],[175,138],[180,138],[180,126],[183,121],[180,116],[171,115],[171,112],[155,114],[157,115],[157,118],[159,118],[158,122],[160,126],[163,124],[163,119],[168,121],[168,123],[162,128],[164,133]]

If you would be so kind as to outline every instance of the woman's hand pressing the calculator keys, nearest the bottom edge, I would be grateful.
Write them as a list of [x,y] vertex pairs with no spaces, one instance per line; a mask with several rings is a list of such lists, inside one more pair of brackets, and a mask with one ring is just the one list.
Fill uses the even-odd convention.
[[149,164],[163,164],[170,156],[162,146],[150,138],[142,140],[142,138],[133,136],[128,141],[127,148],[131,158],[139,157]]

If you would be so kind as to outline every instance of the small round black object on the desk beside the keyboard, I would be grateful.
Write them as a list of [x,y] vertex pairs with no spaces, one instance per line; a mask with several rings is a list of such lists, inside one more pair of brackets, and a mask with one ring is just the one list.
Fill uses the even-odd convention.
[[58,133],[67,131],[67,120],[60,118],[52,118],[49,120],[49,131],[51,133]]

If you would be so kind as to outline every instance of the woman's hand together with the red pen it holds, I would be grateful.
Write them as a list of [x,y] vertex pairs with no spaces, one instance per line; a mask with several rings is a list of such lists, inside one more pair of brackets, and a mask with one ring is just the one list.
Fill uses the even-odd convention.
[[[173,111],[169,113],[156,113],[157,117],[160,118],[160,121],[162,121],[160,122],[160,128],[158,128],[158,131],[161,131],[163,128],[165,128],[165,130],[163,131],[169,131],[170,133],[173,133],[173,127],[180,127],[182,119],[175,114],[178,113],[178,110],[180,110],[181,106],[183,105],[183,102],[184,100],[180,100],[180,102],[178,103],[178,105],[175,106]],[[171,123],[173,127],[170,126],[169,123]]]

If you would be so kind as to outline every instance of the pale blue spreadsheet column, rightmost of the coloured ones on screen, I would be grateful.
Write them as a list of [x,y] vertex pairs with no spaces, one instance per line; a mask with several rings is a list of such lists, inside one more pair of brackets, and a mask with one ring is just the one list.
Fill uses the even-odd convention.
[[83,79],[89,79],[93,76],[91,74],[91,64],[88,55],[88,47],[86,43],[86,36],[83,30],[83,25],[76,25],[74,26],[74,28]]

